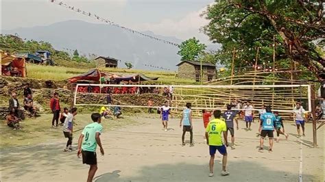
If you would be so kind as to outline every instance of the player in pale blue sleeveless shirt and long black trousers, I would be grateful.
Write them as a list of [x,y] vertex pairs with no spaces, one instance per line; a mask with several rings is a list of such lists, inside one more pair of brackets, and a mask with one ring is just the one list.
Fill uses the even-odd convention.
[[182,116],[180,118],[180,127],[182,127],[183,124],[182,146],[185,146],[184,138],[185,138],[186,131],[190,132],[190,146],[194,146],[191,106],[192,106],[191,103],[186,103],[186,109],[184,109]]

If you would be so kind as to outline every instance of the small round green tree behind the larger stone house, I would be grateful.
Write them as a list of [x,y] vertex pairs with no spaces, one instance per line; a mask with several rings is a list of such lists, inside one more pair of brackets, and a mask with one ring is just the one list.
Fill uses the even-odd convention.
[[206,45],[201,44],[200,40],[197,40],[196,38],[185,40],[178,47],[180,48],[178,55],[181,56],[182,61],[195,61],[200,55],[204,53],[204,50],[206,49]]

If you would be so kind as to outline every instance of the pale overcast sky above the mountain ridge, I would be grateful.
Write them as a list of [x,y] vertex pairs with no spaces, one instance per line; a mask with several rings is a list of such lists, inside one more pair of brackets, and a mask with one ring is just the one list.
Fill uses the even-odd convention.
[[[49,0],[0,1],[1,29],[42,26],[67,20],[101,23]],[[139,31],[154,31],[155,34],[183,40],[195,36],[208,43],[207,36],[199,30],[207,21],[199,15],[213,0],[64,0],[64,3]]]

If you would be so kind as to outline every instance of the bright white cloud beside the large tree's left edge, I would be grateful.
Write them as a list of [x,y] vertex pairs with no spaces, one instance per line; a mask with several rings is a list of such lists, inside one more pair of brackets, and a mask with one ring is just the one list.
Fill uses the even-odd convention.
[[158,23],[143,23],[135,25],[135,27],[141,31],[154,31],[155,34],[176,36],[176,38],[182,40],[196,37],[202,42],[208,43],[208,36],[200,32],[200,28],[208,24],[208,21],[200,16],[205,10],[206,8],[202,8],[201,10],[190,12],[177,21],[166,18]]

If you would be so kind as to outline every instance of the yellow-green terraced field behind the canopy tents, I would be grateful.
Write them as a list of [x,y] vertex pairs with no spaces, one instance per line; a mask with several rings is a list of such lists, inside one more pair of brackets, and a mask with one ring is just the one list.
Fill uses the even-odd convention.
[[[77,64],[77,63],[75,63]],[[75,65],[77,66],[77,65]],[[68,79],[85,73],[91,68],[65,67],[65,66],[43,66],[38,64],[27,64],[27,77],[34,79],[51,79],[60,81]],[[122,68],[101,68],[101,70],[108,73],[115,73],[117,75],[134,75],[138,73],[145,74],[147,77],[159,77],[158,83],[176,83],[176,84],[193,84],[194,80],[180,79],[177,77],[176,72],[171,71],[149,71],[149,70],[135,70],[135,69],[122,69]]]

